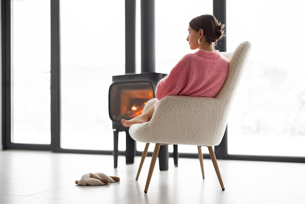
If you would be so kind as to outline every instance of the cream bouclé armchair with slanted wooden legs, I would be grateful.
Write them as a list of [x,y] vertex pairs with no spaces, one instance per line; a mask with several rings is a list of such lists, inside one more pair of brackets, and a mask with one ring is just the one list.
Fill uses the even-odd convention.
[[[229,60],[229,73],[224,86],[215,98],[167,96],[159,101],[151,121],[131,125],[129,133],[133,140],[146,143],[136,180],[147,155],[149,143],[155,143],[145,193],[148,191],[153,168],[162,144],[196,145],[203,178],[205,176],[201,146],[207,146],[221,189],[225,190],[212,147],[219,145],[224,136],[229,110],[250,48],[250,42],[245,41],[239,44],[232,53],[221,52]],[[152,99],[147,103],[147,106],[152,105],[155,100]]]

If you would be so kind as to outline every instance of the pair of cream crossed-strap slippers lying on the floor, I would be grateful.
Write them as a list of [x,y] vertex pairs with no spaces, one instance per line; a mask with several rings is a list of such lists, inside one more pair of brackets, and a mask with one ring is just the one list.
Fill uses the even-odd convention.
[[105,185],[114,182],[120,182],[120,178],[108,176],[104,173],[87,173],[79,181],[75,181],[78,185]]

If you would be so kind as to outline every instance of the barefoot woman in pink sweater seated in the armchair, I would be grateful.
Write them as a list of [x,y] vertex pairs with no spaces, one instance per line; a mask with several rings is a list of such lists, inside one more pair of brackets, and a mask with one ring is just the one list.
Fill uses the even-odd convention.
[[[192,50],[198,51],[185,55],[172,68],[170,74],[158,82],[155,91],[158,101],[170,95],[217,95],[229,71],[229,61],[215,50],[216,42],[224,36],[224,27],[225,25],[212,15],[198,16],[190,21],[187,41]],[[150,121],[155,105],[131,120],[122,119],[121,123],[124,127],[130,127],[134,123]]]

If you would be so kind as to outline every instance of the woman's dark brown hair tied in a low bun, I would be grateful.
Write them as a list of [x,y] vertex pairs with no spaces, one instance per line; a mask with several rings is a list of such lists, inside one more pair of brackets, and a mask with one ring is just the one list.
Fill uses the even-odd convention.
[[193,18],[189,25],[197,32],[202,29],[206,40],[210,43],[215,42],[216,44],[219,39],[225,36],[225,24],[221,24],[214,16],[209,14]]

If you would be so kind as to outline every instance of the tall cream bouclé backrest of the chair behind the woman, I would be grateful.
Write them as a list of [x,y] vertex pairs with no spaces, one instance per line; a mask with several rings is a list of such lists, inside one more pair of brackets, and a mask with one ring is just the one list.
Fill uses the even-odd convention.
[[[228,121],[229,111],[234,100],[238,84],[244,72],[245,64],[250,53],[251,43],[244,41],[240,43],[233,53],[223,53],[229,59],[229,73],[227,80],[215,98],[219,99],[220,117],[218,125],[221,129],[217,132],[224,133]],[[231,56],[230,56],[231,55]]]

